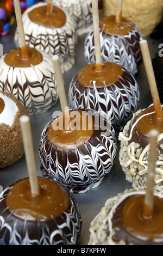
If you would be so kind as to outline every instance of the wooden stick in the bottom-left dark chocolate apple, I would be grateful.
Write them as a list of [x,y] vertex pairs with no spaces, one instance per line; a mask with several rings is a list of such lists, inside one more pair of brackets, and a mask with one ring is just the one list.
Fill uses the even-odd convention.
[[30,129],[30,119],[28,115],[22,115],[22,117],[20,118],[20,124],[24,143],[24,152],[26,155],[26,162],[29,174],[30,189],[32,196],[37,196],[39,195],[39,184],[36,175],[32,132]]

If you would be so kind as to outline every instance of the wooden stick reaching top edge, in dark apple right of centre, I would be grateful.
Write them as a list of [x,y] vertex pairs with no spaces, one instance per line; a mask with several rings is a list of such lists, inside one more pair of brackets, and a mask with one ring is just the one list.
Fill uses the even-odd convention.
[[95,41],[96,70],[102,70],[101,44],[99,35],[98,0],[92,0],[93,32]]

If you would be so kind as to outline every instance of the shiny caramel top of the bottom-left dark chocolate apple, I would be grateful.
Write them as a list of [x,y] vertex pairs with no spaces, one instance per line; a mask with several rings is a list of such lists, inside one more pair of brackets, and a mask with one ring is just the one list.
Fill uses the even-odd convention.
[[23,179],[10,189],[6,204],[18,218],[28,221],[51,221],[67,210],[70,198],[64,187],[45,178],[38,178],[39,196],[32,196],[29,179]]

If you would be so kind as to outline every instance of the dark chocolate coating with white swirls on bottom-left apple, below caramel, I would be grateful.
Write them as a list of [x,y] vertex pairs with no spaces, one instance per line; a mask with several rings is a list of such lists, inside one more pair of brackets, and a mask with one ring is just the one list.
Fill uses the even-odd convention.
[[[70,194],[68,209],[52,221],[35,222],[16,218],[8,210],[6,197],[0,199],[0,245],[76,245],[82,228],[79,206]],[[0,197],[1,198],[1,197]]]

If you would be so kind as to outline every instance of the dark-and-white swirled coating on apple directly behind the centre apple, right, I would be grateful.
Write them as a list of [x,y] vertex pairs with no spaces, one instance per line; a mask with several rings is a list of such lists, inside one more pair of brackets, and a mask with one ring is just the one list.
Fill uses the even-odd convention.
[[137,110],[139,104],[139,86],[135,78],[123,69],[122,77],[114,84],[104,84],[103,88],[84,87],[74,75],[68,92],[68,101],[72,109],[90,108],[103,113],[115,130],[123,126]]

